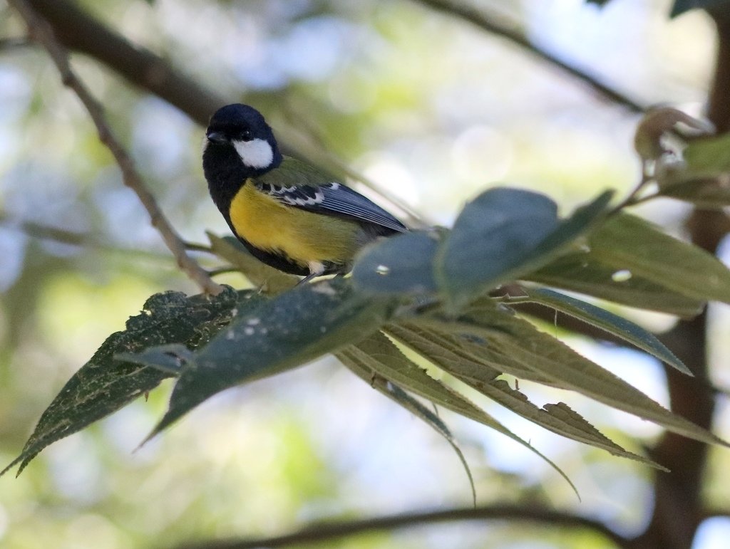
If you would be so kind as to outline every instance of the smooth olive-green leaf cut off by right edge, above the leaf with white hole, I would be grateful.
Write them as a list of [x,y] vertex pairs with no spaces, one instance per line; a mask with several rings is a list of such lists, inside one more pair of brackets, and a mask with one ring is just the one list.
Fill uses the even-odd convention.
[[590,240],[591,252],[617,270],[698,300],[730,303],[730,270],[717,257],[661,233],[644,219],[617,214]]

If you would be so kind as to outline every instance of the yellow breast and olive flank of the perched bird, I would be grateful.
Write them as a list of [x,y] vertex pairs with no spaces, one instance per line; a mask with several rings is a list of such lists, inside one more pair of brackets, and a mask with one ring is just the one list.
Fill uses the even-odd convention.
[[251,182],[231,201],[230,214],[241,238],[303,267],[311,262],[347,264],[358,250],[355,222],[285,206]]

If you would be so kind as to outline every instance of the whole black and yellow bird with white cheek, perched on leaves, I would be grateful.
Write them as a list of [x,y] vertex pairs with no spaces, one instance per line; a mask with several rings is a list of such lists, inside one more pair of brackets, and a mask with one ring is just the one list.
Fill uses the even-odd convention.
[[345,184],[283,156],[251,106],[218,109],[205,138],[210,195],[234,235],[267,265],[304,281],[347,273],[363,246],[407,230]]

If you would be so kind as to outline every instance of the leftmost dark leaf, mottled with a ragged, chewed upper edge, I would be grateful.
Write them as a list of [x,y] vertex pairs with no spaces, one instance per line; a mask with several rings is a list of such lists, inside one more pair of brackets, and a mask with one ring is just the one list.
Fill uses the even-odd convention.
[[206,343],[245,305],[250,292],[237,294],[225,287],[220,295],[186,297],[164,292],[150,297],[142,314],[126,323],[126,330],[110,335],[91,359],[75,373],[42,414],[23,452],[0,474],[20,463],[18,475],[37,453],[56,440],[72,435],[132,400],[154,389],[172,373],[116,358],[150,345],[181,343],[195,349]]

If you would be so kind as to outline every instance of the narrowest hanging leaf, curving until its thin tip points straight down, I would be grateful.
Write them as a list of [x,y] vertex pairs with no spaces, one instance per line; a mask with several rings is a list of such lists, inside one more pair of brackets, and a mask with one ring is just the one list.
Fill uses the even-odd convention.
[[426,408],[426,406],[418,402],[418,400],[415,400],[415,398],[395,383],[391,383],[391,381],[388,381],[382,376],[374,373],[374,371],[371,370],[360,357],[353,355],[350,351],[351,348],[347,347],[337,352],[335,356],[340,362],[342,362],[342,364],[345,365],[345,367],[347,367],[348,370],[357,375],[358,378],[369,383],[373,389],[385,394],[385,396],[393,400],[393,402],[401,405],[414,416],[424,421],[427,425],[429,425],[429,427],[444,437],[446,442],[451,445],[451,448],[453,448],[453,451],[456,452],[456,456],[458,456],[458,459],[461,462],[461,466],[464,467],[464,471],[466,471],[466,476],[469,478],[469,486],[472,488],[472,501],[474,502],[474,505],[477,505],[477,490],[474,486],[472,470],[469,469],[469,464],[466,462],[464,453],[458,446],[456,437],[451,434],[450,429],[446,426],[442,419],[429,410],[429,408]]

